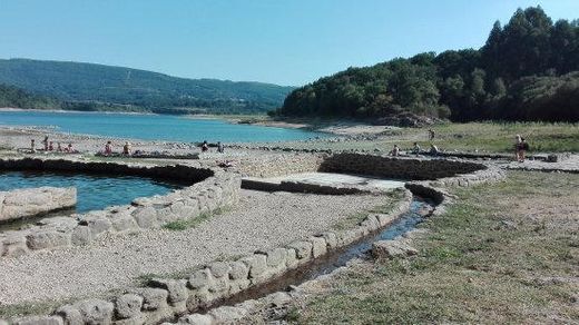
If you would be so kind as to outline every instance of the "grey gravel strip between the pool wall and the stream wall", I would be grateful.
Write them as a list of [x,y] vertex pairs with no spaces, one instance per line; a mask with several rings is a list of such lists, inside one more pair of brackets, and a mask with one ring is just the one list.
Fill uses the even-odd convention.
[[0,259],[0,305],[97,296],[135,286],[140,275],[205,263],[306,238],[342,217],[384,204],[379,196],[242,191],[239,205],[183,232],[110,236],[88,247]]

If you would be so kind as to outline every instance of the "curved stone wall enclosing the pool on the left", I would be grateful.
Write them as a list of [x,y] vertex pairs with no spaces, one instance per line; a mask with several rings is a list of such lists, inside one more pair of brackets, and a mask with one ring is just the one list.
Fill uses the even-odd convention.
[[[157,228],[166,223],[195,218],[238,201],[241,177],[218,169],[187,166],[128,166],[111,162],[19,159],[1,160],[0,168],[101,173],[169,178],[193,184],[165,196],[135,199],[130,205],[78,215],[77,218],[45,218],[23,230],[0,233],[0,256],[19,256],[31,250],[88,244],[107,233]],[[107,173],[109,171],[109,173]]]

